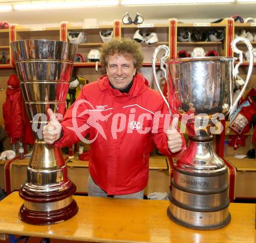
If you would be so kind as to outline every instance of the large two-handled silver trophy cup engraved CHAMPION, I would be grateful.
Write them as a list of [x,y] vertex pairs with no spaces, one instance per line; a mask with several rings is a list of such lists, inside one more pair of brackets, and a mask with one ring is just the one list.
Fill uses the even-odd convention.
[[[233,101],[234,80],[243,62],[243,52],[236,47],[239,41],[250,51],[250,65],[243,89]],[[152,59],[162,98],[170,113],[176,110],[182,122],[187,121],[189,131],[187,150],[174,163],[168,207],[170,219],[185,227],[211,230],[226,226],[231,218],[227,166],[214,151],[212,133],[221,116],[231,115],[236,109],[253,69],[253,47],[246,38],[234,39],[232,49],[239,54],[236,66],[236,58],[219,56],[169,60],[166,45],[156,48]],[[160,65],[167,81],[168,100],[159,87],[155,68],[160,50],[165,51]]]

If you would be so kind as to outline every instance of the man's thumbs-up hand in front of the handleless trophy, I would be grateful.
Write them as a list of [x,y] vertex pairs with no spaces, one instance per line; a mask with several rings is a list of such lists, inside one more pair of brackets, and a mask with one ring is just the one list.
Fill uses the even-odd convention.
[[52,109],[47,109],[47,114],[50,122],[44,126],[42,137],[47,144],[54,144],[61,137],[61,123],[59,123]]

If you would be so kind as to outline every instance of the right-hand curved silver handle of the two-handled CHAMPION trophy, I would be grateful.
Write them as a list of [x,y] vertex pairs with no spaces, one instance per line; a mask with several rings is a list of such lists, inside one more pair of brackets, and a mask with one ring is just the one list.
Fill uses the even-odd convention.
[[247,84],[249,83],[249,80],[250,80],[250,77],[251,77],[251,72],[253,71],[253,47],[252,47],[250,41],[247,40],[247,38],[236,37],[236,38],[234,38],[234,40],[231,43],[231,48],[232,48],[233,52],[239,54],[239,62],[237,63],[237,65],[233,69],[233,78],[237,77],[237,74],[239,74],[239,70],[238,70],[239,66],[243,63],[243,51],[239,50],[236,47],[237,42],[240,42],[240,41],[244,42],[244,44],[246,44],[246,46],[248,48],[248,51],[250,53],[249,68],[248,68],[248,73],[247,73],[247,76],[246,76],[246,81],[244,83],[244,86],[243,86],[240,94],[236,98],[236,101],[234,101],[233,105],[229,109],[229,118],[230,118],[230,116],[232,116],[234,110],[236,109],[237,103],[239,102],[240,98],[244,94],[244,91],[246,90]]

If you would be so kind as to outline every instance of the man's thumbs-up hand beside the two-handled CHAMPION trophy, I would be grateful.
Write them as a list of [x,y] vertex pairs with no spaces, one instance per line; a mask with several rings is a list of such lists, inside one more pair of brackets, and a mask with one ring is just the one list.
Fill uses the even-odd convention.
[[177,153],[182,150],[182,135],[177,131],[177,124],[179,122],[178,117],[174,117],[172,120],[172,124],[166,131],[167,140],[168,140],[168,148],[170,152]]

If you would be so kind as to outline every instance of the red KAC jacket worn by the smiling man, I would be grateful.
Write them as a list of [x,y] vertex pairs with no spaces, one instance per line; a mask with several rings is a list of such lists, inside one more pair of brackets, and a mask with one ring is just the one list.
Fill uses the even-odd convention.
[[[156,119],[155,114],[168,113],[167,106],[161,95],[148,87],[148,81],[141,74],[134,77],[128,94],[111,88],[107,76],[84,86],[66,112],[62,122],[63,137],[56,146],[79,141],[72,124],[72,112],[73,117],[83,112],[76,119],[77,127],[85,130],[81,133],[83,136],[90,133],[88,140],[95,140],[91,143],[89,171],[108,195],[131,194],[147,186],[151,139],[162,153],[171,156],[163,131],[164,120]],[[159,120],[158,133],[152,133],[154,117],[156,124]],[[166,120],[167,129],[170,117]]]

